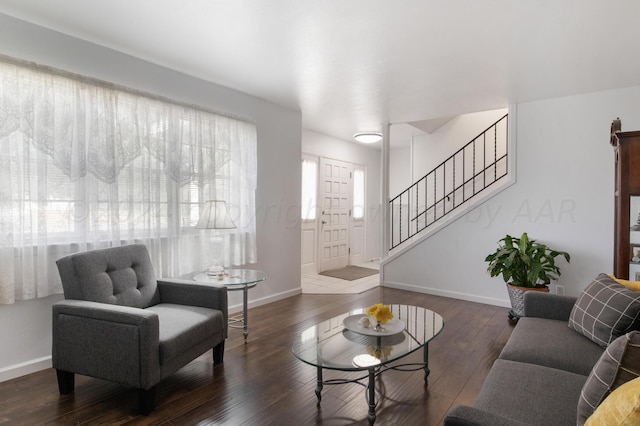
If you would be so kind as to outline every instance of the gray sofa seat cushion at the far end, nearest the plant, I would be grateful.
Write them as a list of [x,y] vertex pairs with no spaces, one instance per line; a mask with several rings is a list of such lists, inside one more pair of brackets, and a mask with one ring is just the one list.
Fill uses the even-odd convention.
[[566,321],[522,317],[500,358],[558,368],[586,377],[603,350],[569,329]]

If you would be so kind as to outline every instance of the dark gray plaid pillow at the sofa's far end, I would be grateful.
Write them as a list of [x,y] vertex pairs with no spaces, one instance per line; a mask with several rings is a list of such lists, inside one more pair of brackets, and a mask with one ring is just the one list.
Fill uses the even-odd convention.
[[636,326],[640,292],[629,290],[607,274],[599,274],[582,292],[569,317],[569,327],[606,347]]

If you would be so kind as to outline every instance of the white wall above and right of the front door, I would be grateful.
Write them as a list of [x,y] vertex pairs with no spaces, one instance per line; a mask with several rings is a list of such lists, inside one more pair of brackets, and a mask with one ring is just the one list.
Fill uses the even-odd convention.
[[[381,151],[355,142],[336,139],[310,130],[302,131],[302,152],[366,166],[367,229],[365,231],[365,260],[380,257]],[[298,161],[299,162],[299,161]]]

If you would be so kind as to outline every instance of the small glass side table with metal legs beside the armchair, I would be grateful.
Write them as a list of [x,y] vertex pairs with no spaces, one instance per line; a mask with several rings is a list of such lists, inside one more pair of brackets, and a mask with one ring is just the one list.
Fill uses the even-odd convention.
[[229,291],[242,290],[242,312],[230,316],[228,320],[229,327],[241,328],[244,342],[247,343],[249,335],[249,289],[258,285],[259,282],[265,281],[267,274],[255,269],[225,269],[221,278],[217,275],[201,272],[193,277],[194,281],[210,282],[212,284],[223,285]]

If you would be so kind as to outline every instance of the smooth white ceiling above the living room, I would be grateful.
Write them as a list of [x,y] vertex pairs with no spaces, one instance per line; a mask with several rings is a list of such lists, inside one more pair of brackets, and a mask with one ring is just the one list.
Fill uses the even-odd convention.
[[0,0],[0,12],[299,109],[304,128],[346,140],[640,85],[636,0]]

